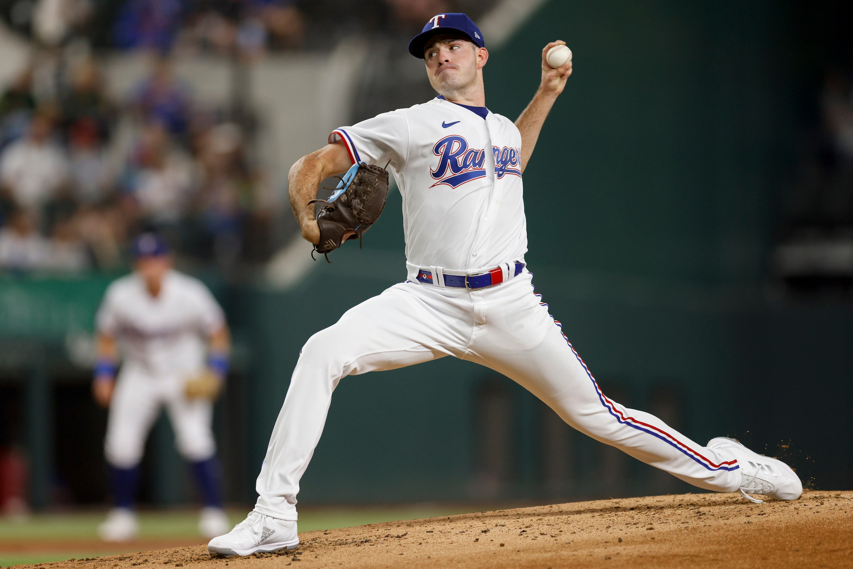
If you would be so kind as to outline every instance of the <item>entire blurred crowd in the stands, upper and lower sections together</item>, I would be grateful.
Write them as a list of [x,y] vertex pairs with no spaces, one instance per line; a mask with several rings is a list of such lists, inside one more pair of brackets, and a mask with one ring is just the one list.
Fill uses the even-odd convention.
[[[257,164],[252,109],[204,107],[170,61],[210,55],[246,67],[270,51],[328,50],[371,33],[379,64],[357,90],[361,119],[432,96],[420,68],[405,80],[413,62],[397,43],[433,14],[477,15],[492,3],[0,0],[6,26],[34,47],[0,96],[0,269],[109,270],[141,230],[222,269],[270,258],[281,209]],[[98,64],[116,49],[152,61],[121,101],[107,96]]]

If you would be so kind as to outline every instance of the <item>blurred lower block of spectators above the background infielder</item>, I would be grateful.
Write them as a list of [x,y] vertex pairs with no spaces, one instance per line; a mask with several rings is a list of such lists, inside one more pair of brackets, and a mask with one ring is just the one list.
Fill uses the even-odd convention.
[[140,230],[225,267],[251,256],[271,205],[245,129],[195,102],[165,58],[151,67],[123,102],[88,55],[27,69],[0,96],[0,267],[108,270]]

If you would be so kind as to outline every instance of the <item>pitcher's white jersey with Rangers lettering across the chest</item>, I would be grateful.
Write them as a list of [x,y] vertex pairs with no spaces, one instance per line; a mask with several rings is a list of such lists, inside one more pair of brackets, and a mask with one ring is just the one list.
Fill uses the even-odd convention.
[[523,260],[521,134],[437,97],[336,129],[354,162],[390,167],[403,195],[409,279],[421,267],[476,273]]

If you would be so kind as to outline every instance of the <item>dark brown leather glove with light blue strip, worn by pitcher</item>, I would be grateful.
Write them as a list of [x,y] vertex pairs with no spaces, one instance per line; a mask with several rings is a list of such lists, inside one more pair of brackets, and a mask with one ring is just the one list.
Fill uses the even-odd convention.
[[379,219],[388,197],[388,171],[381,166],[359,162],[339,179],[328,200],[308,202],[324,202],[317,213],[320,243],[314,246],[314,251],[326,255],[329,263],[332,261],[328,260],[328,253],[344,241],[358,239],[361,245],[362,235]]

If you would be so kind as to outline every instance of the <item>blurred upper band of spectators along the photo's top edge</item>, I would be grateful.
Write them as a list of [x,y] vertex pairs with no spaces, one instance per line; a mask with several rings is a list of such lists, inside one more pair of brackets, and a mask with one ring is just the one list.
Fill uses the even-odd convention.
[[432,15],[479,15],[493,0],[0,0],[8,25],[39,44],[212,53],[326,49],[357,33],[418,31]]

